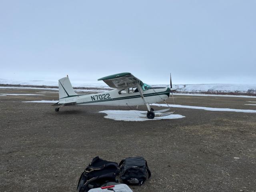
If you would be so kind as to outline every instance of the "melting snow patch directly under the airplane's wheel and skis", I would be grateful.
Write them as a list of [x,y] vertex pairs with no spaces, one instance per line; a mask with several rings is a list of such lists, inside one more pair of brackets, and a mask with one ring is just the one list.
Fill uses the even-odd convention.
[[134,111],[134,110],[105,110],[100,111],[99,113],[106,113],[107,115],[104,118],[113,119],[117,121],[147,121],[147,120],[161,120],[161,119],[178,119],[184,118],[185,116],[178,114],[171,114],[163,117],[155,117],[154,119],[141,118],[145,116],[141,113],[145,111]]

